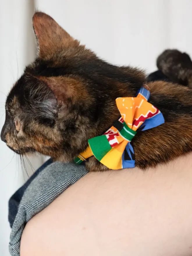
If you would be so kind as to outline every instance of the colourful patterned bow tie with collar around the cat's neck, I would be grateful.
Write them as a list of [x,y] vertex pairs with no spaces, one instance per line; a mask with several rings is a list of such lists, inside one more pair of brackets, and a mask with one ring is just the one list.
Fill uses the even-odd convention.
[[137,131],[145,131],[165,122],[162,113],[147,102],[149,97],[149,90],[142,87],[137,97],[117,98],[116,105],[121,117],[103,135],[89,139],[89,147],[74,162],[81,163],[94,155],[109,169],[135,167],[131,140]]

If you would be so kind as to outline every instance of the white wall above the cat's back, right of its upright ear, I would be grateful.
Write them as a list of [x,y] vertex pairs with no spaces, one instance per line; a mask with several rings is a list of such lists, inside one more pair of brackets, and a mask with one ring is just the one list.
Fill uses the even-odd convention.
[[36,0],[36,6],[111,63],[151,71],[167,47],[192,54],[190,0]]

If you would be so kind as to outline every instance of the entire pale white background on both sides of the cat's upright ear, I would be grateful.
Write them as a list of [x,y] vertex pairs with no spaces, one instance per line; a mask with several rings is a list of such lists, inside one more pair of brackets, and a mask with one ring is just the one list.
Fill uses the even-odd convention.
[[[35,8],[51,15],[103,59],[147,72],[165,48],[192,56],[191,0],[0,0],[0,129],[6,95],[35,57],[31,17]],[[36,169],[43,157],[30,159]],[[32,170],[28,165],[28,173]],[[27,179],[20,160],[0,142],[0,255],[7,256],[8,199]]]

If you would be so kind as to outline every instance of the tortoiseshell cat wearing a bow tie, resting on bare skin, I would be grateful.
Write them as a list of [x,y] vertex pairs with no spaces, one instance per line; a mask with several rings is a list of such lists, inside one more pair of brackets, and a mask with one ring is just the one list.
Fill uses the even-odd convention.
[[[119,118],[115,99],[135,97],[146,77],[136,68],[102,61],[45,13],[34,14],[33,28],[38,57],[7,97],[1,139],[18,154],[38,151],[57,161],[72,161],[89,138],[103,134]],[[192,150],[192,90],[164,81],[147,86],[165,124],[134,137],[140,168]],[[95,157],[86,167],[107,169]]]

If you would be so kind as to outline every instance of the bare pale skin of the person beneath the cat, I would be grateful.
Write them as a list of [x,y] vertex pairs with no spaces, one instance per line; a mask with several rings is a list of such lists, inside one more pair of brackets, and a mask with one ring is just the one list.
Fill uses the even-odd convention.
[[192,153],[89,173],[26,225],[21,256],[191,256]]

